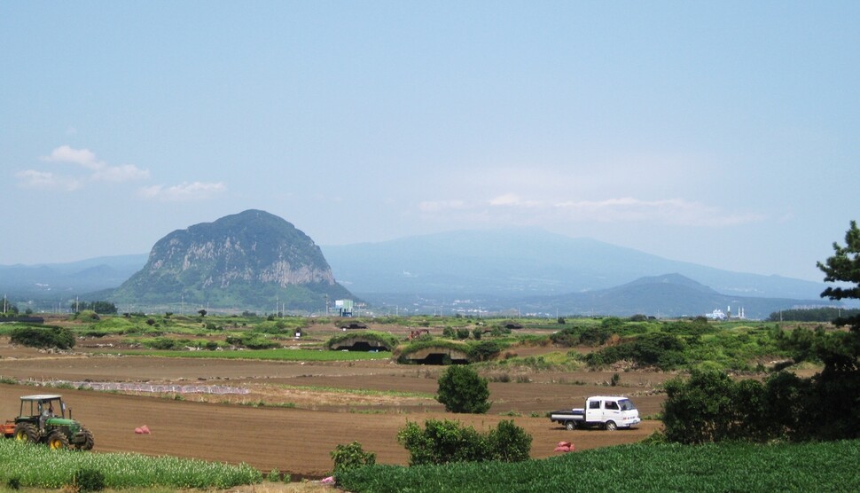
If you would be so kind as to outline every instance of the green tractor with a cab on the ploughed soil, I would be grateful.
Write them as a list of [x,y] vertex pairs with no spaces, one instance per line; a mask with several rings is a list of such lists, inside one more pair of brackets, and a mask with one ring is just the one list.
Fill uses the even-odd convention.
[[51,450],[91,450],[93,445],[92,432],[72,419],[60,395],[23,395],[13,433],[19,442],[45,443]]

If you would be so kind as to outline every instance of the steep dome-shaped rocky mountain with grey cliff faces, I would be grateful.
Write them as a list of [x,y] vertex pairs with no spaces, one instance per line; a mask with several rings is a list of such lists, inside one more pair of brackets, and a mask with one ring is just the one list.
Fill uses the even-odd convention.
[[[322,251],[277,215],[246,210],[160,239],[110,296],[121,309],[179,303],[218,309],[322,311],[353,299]],[[132,307],[132,308],[129,308]]]

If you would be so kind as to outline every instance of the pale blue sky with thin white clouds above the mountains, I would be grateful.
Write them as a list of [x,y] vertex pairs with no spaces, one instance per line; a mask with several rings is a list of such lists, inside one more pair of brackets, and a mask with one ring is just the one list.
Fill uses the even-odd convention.
[[856,2],[0,3],[0,264],[259,208],[319,245],[541,227],[821,280]]

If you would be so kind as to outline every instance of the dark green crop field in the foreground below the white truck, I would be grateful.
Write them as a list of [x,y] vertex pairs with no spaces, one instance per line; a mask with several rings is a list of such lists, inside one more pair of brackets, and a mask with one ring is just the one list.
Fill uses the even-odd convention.
[[348,491],[860,491],[860,442],[634,444],[520,463],[365,466]]

